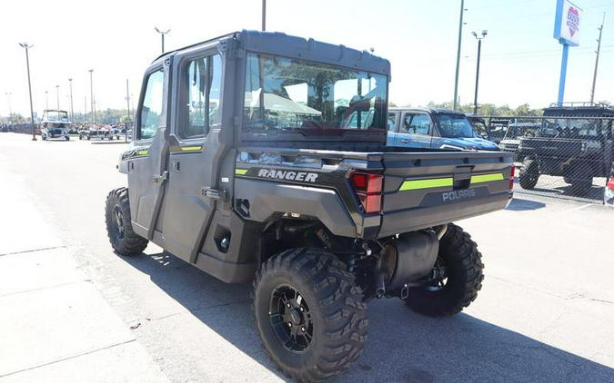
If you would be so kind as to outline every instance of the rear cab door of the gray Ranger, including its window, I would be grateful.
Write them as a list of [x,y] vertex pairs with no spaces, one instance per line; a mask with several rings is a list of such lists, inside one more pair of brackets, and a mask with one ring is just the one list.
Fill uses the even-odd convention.
[[216,202],[220,143],[222,57],[216,47],[177,54],[169,179],[162,231],[165,249],[195,262]]

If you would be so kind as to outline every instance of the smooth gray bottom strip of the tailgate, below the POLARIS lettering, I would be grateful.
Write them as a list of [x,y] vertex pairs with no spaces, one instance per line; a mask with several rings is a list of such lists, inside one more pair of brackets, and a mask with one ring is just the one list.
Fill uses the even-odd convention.
[[385,214],[378,238],[408,231],[418,231],[452,221],[499,211],[508,205],[510,194],[497,193],[487,197],[440,204],[428,208],[414,208]]

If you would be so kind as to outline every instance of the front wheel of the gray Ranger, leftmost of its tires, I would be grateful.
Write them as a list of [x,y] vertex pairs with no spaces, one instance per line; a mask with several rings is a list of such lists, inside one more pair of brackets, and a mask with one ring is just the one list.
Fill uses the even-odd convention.
[[140,254],[147,247],[147,240],[132,230],[128,189],[119,188],[106,196],[106,234],[111,247],[119,255]]

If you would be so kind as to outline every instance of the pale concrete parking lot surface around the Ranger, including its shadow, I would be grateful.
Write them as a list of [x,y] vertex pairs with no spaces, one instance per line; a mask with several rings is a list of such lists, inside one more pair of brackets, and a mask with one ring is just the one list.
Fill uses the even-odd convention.
[[[116,381],[282,380],[257,339],[248,285],[226,285],[155,245],[132,258],[111,251],[104,201],[126,185],[116,171],[124,144],[29,140],[0,133],[0,221],[10,233],[0,268],[27,276],[38,267],[53,279],[74,266],[35,293],[22,278],[0,281],[11,312],[0,319],[0,382],[63,381],[75,366]],[[458,222],[486,264],[478,300],[447,319],[373,301],[365,353],[337,381],[614,381],[614,210],[517,197],[506,211]],[[47,336],[26,337],[36,329]]]

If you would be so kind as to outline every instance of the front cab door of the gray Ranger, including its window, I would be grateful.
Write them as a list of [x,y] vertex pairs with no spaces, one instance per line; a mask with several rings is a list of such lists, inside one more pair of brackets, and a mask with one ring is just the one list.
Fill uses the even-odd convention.
[[171,59],[147,70],[136,114],[135,150],[128,160],[131,221],[139,235],[153,240],[168,172],[167,89]]

